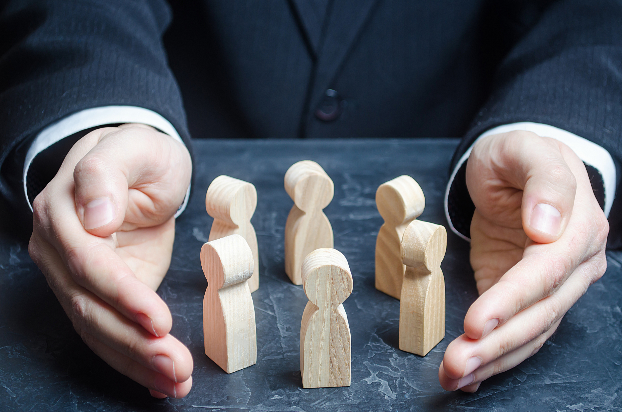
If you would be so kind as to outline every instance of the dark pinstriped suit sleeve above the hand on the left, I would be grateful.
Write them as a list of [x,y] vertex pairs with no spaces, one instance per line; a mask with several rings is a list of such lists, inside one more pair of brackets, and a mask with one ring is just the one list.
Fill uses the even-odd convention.
[[167,119],[190,149],[162,34],[164,0],[14,0],[0,11],[0,191],[29,210],[24,159],[50,124],[101,106]]

